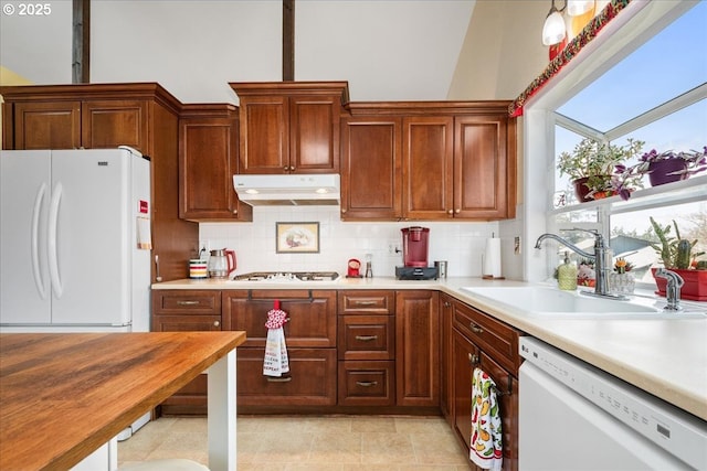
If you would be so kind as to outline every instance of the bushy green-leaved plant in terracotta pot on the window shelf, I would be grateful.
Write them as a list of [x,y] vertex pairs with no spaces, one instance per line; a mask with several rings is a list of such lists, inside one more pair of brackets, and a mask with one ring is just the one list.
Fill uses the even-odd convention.
[[614,146],[584,138],[574,146],[572,152],[560,153],[557,168],[560,175],[568,175],[572,180],[580,202],[591,201],[594,195],[606,195],[602,192],[614,191],[612,175],[615,175],[616,165],[637,156],[644,143],[629,139],[625,146]]

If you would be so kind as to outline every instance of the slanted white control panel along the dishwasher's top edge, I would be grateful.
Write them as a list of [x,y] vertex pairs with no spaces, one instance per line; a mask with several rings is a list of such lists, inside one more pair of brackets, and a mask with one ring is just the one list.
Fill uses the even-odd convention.
[[707,464],[705,420],[540,340],[523,336],[519,350],[527,362],[689,465]]

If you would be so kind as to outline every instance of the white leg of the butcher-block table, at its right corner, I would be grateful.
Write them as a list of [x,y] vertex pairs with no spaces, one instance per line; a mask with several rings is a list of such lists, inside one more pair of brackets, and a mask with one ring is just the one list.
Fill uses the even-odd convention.
[[209,368],[209,469],[234,471],[235,443],[235,350]]

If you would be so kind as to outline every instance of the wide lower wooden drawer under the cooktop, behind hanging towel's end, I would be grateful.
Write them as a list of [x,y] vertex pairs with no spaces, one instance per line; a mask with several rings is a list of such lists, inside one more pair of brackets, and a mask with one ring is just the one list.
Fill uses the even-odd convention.
[[336,350],[288,349],[287,377],[263,376],[265,349],[238,354],[238,404],[242,406],[336,405]]

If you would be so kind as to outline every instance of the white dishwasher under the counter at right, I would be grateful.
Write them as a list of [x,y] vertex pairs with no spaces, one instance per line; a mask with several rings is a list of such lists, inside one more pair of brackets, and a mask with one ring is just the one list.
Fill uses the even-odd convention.
[[707,470],[707,422],[532,338],[520,338],[521,471]]

